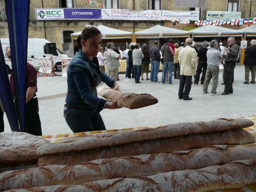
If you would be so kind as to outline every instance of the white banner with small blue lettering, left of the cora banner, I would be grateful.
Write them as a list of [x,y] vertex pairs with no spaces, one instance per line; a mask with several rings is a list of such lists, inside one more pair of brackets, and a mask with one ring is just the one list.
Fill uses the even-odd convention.
[[175,19],[199,20],[199,11],[169,11],[162,10],[162,17]]

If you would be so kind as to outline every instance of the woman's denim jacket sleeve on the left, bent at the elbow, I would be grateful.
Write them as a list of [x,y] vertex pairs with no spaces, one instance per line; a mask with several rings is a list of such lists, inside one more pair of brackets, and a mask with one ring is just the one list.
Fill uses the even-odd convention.
[[90,104],[91,106],[95,106],[98,109],[102,109],[107,100],[98,98],[92,94],[88,76],[84,73],[75,72],[73,73],[73,77],[75,85],[83,101]]

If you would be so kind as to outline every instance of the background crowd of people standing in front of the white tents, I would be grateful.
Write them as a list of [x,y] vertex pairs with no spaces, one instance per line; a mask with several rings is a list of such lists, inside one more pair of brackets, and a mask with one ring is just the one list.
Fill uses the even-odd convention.
[[[251,46],[245,50],[244,84],[249,84],[249,72],[252,74],[250,83],[255,84],[256,60],[253,58],[253,54],[256,53],[255,40],[250,43]],[[108,43],[108,45],[110,44],[113,43]],[[105,60],[110,71],[109,75],[113,79],[119,80],[115,73],[117,73],[120,66],[119,59],[121,55],[115,54],[113,48],[111,48],[112,46],[108,45],[107,53],[109,49],[113,53]],[[219,66],[222,64],[222,85],[225,85],[222,95],[233,93],[234,68],[237,60],[240,60],[241,53],[241,48],[236,45],[235,38],[229,37],[227,46],[223,46],[222,42],[218,43],[217,40],[212,40],[210,43],[203,41],[202,47],[200,49],[198,47],[199,44],[191,38],[187,38],[180,46],[173,39],[167,40],[161,47],[156,40],[154,46],[150,49],[145,43],[141,48],[139,44],[127,45],[124,51],[127,61],[125,76],[131,78],[132,73],[135,83],[141,83],[140,80],[144,80],[143,74],[146,73],[146,80],[155,83],[173,84],[172,76],[174,75],[174,79],[180,79],[179,99],[191,100],[192,98],[189,97],[191,84],[197,86],[199,81],[203,86],[203,94],[208,93],[209,82],[212,80],[210,95],[220,95],[216,92],[216,89],[220,71]],[[158,80],[160,63],[162,63],[161,81]],[[148,77],[149,64],[151,64],[150,78]],[[115,66],[116,71],[112,71],[113,66]],[[192,83],[193,77],[194,82]]]

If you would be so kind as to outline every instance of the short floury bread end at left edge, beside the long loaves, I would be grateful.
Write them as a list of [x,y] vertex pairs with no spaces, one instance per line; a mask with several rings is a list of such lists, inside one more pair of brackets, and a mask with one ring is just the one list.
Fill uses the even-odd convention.
[[37,148],[49,143],[26,132],[0,133],[0,165],[37,159]]

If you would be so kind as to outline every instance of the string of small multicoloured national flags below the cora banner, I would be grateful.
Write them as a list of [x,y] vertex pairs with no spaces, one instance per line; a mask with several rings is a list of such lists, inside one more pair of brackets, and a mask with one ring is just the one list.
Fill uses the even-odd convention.
[[[169,19],[173,21],[173,18]],[[173,22],[176,22],[174,20]],[[179,20],[180,24],[189,25],[190,20],[181,19]],[[256,17],[254,18],[245,18],[245,19],[236,19],[236,20],[195,20],[195,26],[205,26],[205,25],[213,25],[213,26],[222,26],[222,25],[243,25],[243,24],[256,24]]]

